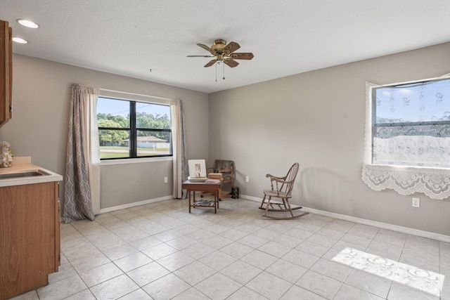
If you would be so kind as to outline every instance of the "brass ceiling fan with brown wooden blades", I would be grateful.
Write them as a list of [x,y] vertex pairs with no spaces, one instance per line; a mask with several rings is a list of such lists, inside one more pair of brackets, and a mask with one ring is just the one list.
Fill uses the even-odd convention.
[[188,56],[188,58],[214,58],[210,60],[205,67],[211,67],[217,62],[223,62],[229,67],[236,67],[239,63],[236,60],[251,60],[253,58],[253,53],[234,53],[234,51],[240,48],[238,43],[231,41],[228,45],[223,39],[216,39],[214,45],[210,47],[203,44],[197,44],[198,46],[204,48],[206,51],[210,52],[212,56]]

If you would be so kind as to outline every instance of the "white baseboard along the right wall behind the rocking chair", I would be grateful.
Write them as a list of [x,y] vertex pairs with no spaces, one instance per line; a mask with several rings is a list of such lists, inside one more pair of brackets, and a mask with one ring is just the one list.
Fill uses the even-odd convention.
[[[247,199],[247,200],[252,200],[255,202],[262,201],[262,198],[252,197],[252,196],[248,196],[248,195],[239,195],[239,197],[243,198],[243,199]],[[423,230],[413,229],[413,228],[409,228],[409,227],[392,225],[389,223],[383,223],[383,222],[378,222],[378,221],[356,218],[356,216],[347,216],[345,214],[335,214],[334,212],[322,211],[319,209],[311,209],[309,207],[303,207],[302,210],[310,212],[311,214],[319,214],[321,216],[329,216],[330,218],[334,218],[334,219],[351,221],[354,223],[360,223],[360,224],[364,224],[364,225],[368,225],[368,226],[375,226],[375,227],[379,227],[379,228],[383,228],[383,229],[387,229],[387,230],[394,230],[394,231],[398,231],[399,233],[407,233],[409,235],[418,235],[420,237],[428,237],[432,240],[439,240],[442,242],[450,242],[449,235],[441,235],[439,233],[431,233],[429,231],[423,231]]]

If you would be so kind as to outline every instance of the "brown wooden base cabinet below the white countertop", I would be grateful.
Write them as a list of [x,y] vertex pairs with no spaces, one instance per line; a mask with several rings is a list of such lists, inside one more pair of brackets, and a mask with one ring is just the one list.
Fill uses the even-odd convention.
[[58,182],[0,188],[0,299],[47,285],[60,265]]

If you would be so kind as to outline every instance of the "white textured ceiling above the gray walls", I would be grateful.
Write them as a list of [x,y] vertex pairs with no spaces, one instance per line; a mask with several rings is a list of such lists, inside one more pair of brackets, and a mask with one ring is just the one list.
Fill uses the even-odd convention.
[[[14,53],[206,93],[450,41],[449,15],[450,0],[0,0],[29,41]],[[186,58],[214,39],[255,58],[216,82],[210,58]]]

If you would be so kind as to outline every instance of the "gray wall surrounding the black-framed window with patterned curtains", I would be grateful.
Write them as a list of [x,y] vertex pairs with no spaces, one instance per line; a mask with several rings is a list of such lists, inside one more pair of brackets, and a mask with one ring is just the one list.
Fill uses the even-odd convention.
[[[0,141],[11,143],[14,155],[31,155],[34,164],[65,175],[72,83],[183,100],[187,155],[207,159],[206,93],[19,55],[13,56],[13,119],[0,129]],[[63,198],[62,187],[60,193]],[[169,195],[172,161],[101,167],[102,209]]]

